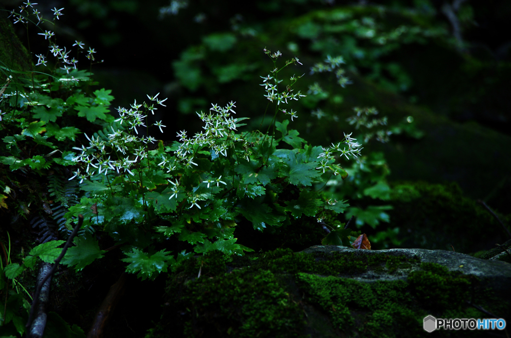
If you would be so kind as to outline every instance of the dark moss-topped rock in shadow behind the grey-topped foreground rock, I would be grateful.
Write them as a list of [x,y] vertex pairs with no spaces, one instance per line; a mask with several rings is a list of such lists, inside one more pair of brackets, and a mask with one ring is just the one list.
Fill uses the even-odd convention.
[[[474,253],[507,239],[494,216],[454,182],[394,184],[391,204],[390,227],[399,227],[402,248]],[[504,223],[510,220],[510,215],[502,218]]]

